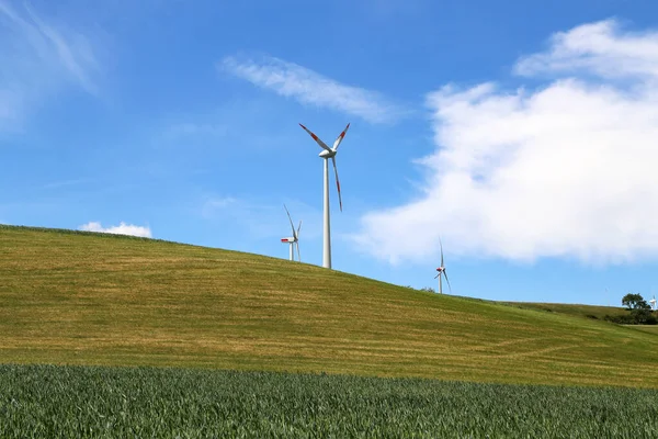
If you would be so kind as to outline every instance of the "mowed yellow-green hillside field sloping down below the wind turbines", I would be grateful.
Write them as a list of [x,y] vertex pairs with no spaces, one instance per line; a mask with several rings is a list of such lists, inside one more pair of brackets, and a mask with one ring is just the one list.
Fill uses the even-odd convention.
[[0,280],[2,363],[658,387],[655,333],[249,254],[0,226]]

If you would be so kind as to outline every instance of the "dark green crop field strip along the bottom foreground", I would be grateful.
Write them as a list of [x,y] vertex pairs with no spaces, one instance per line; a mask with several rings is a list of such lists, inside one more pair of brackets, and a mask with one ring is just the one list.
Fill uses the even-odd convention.
[[658,391],[0,367],[0,437],[656,438]]

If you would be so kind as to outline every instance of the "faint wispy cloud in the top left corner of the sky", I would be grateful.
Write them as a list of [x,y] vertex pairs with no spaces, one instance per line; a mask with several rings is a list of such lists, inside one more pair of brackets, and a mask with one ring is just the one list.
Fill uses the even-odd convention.
[[67,83],[97,93],[99,70],[86,35],[44,20],[27,2],[0,0],[0,127]]

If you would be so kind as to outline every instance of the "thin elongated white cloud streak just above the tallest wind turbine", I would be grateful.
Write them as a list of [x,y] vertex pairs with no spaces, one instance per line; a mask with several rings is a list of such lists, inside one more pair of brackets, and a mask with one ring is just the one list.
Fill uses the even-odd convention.
[[371,123],[394,122],[402,115],[399,108],[378,92],[342,85],[279,58],[264,57],[259,63],[229,56],[218,68],[303,104],[340,111]]

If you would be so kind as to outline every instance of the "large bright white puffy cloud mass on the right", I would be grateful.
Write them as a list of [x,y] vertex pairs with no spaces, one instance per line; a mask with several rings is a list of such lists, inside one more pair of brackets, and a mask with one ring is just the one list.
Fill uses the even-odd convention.
[[362,248],[427,261],[441,235],[453,255],[519,261],[658,256],[658,34],[579,26],[515,70],[557,78],[532,91],[484,83],[428,95],[436,151],[419,160],[423,191],[364,215]]

